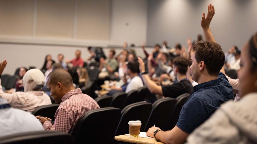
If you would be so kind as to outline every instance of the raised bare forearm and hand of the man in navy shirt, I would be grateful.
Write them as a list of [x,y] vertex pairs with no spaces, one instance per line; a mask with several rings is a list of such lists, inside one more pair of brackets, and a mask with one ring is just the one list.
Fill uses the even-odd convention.
[[212,4],[208,5],[208,13],[205,17],[205,13],[202,15],[201,26],[203,28],[203,34],[206,41],[216,42],[210,29],[210,22],[215,14],[215,9]]

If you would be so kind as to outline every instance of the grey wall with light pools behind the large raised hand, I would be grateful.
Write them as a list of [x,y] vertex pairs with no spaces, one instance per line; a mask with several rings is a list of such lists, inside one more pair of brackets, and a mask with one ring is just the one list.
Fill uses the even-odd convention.
[[210,2],[216,10],[211,30],[217,43],[224,51],[231,45],[242,49],[257,31],[256,0],[149,0],[147,44],[167,40],[171,47],[177,42],[187,46],[188,37],[203,34],[200,20]]

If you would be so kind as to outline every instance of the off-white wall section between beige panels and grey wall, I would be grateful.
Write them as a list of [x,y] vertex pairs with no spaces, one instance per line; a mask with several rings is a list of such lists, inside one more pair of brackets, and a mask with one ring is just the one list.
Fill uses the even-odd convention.
[[112,0],[110,44],[146,41],[147,0]]

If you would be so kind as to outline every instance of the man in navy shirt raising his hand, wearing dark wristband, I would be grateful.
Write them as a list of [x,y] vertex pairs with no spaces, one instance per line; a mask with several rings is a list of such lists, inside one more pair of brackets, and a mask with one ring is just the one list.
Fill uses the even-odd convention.
[[[208,5],[207,17],[203,15],[201,21],[203,29],[209,27],[214,13],[214,7]],[[176,126],[169,131],[151,127],[146,133],[148,136],[156,137],[164,143],[184,143],[188,135],[206,121],[222,103],[234,99],[232,86],[220,72],[225,61],[224,52],[210,37],[205,36],[205,39],[209,41],[200,41],[191,47],[192,79],[199,84],[194,86],[194,92],[182,107]]]

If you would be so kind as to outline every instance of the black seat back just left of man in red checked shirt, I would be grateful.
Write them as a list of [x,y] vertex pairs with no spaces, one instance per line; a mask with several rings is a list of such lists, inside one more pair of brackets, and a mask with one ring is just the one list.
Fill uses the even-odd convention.
[[35,108],[34,111],[32,111],[32,114],[34,116],[41,115],[44,117],[50,117],[52,121],[54,121],[54,115],[58,107],[59,104],[42,105]]

